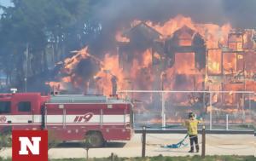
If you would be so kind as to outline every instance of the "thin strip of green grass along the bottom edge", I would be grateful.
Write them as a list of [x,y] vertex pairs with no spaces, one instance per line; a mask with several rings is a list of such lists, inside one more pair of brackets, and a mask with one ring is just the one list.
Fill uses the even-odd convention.
[[[49,159],[49,161],[84,161],[84,158],[67,158],[67,159]],[[112,161],[111,158],[90,158],[89,161]],[[193,157],[150,157],[150,158],[118,158],[114,156],[113,161],[256,161],[253,156],[206,156],[206,158],[201,158],[201,156]],[[3,159],[0,161],[11,161],[11,158]]]

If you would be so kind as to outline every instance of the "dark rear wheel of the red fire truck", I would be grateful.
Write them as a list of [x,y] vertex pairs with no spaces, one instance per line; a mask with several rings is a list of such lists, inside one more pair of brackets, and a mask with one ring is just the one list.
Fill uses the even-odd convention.
[[89,147],[102,147],[104,144],[104,139],[102,137],[102,133],[100,132],[89,132],[86,135],[86,142]]

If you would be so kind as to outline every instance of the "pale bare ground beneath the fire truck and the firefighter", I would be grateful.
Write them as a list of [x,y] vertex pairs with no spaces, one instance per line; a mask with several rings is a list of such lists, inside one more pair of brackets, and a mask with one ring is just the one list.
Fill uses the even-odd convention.
[[[177,149],[163,148],[161,145],[173,144],[181,141],[183,134],[148,134],[147,156],[187,156],[201,155],[188,153],[189,145]],[[142,135],[136,134],[131,141],[109,142],[107,147],[93,148],[89,150],[90,158],[103,158],[111,155],[111,152],[119,157],[139,157],[142,153]],[[206,141],[207,155],[254,155],[256,156],[256,137],[254,135],[208,135]],[[189,139],[185,141],[189,144]],[[201,135],[199,135],[201,147]],[[86,150],[80,143],[70,142],[61,144],[59,147],[49,149],[49,158],[84,158]],[[0,157],[11,157],[11,148],[3,148]]]

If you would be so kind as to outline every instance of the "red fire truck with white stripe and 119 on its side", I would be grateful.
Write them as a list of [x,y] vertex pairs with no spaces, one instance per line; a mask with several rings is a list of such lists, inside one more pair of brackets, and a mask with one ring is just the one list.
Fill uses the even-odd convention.
[[58,141],[83,141],[102,147],[105,141],[130,140],[132,104],[103,95],[0,94],[0,132],[47,129]]

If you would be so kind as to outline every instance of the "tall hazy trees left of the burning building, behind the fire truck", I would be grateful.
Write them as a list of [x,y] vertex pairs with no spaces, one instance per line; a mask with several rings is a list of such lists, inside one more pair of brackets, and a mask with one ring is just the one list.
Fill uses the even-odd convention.
[[[90,0],[12,0],[0,20],[0,69],[10,87],[44,75],[101,32]],[[49,54],[50,53],[50,54]],[[50,60],[49,60],[50,59]]]

